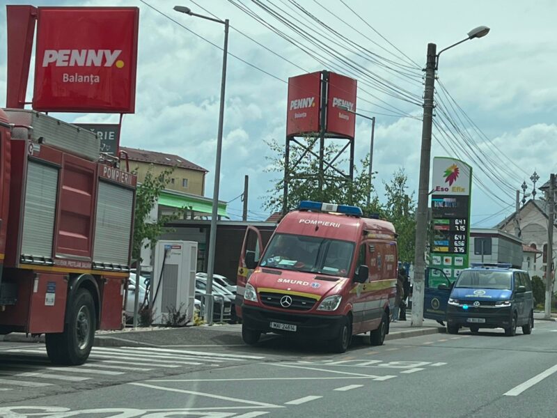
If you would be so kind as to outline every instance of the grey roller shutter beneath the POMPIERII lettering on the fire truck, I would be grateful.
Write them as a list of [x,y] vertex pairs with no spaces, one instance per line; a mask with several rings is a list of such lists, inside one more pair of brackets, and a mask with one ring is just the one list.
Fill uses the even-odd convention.
[[95,222],[95,263],[128,267],[134,192],[100,181]]

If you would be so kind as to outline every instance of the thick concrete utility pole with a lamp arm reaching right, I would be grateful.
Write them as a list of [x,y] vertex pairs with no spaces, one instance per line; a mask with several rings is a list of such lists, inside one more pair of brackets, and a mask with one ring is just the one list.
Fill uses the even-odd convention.
[[433,119],[433,93],[435,70],[439,65],[439,55],[456,45],[474,38],[482,38],[489,32],[487,26],[478,26],[469,31],[467,38],[456,42],[437,54],[437,45],[427,44],[427,63],[425,65],[425,92],[423,99],[423,125],[420,157],[420,180],[418,184],[418,210],[416,211],[416,252],[414,254],[414,291],[412,296],[411,326],[423,324],[423,296],[425,279],[425,245],[427,236],[427,196],[430,185],[431,134]]

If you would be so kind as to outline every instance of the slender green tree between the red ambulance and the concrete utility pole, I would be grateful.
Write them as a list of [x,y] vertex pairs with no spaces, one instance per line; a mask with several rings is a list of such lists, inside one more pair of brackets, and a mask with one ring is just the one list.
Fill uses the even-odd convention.
[[393,173],[390,183],[384,183],[386,218],[395,226],[398,234],[398,259],[411,261],[414,259],[416,241],[416,201],[414,192],[407,194],[408,176],[404,169]]

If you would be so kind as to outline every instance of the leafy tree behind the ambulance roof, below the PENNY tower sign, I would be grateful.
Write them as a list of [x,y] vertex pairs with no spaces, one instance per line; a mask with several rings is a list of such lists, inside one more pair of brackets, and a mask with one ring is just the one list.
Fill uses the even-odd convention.
[[[302,144],[306,148],[313,149],[317,139],[304,138]],[[265,209],[272,212],[280,212],[283,208],[283,191],[284,191],[284,146],[278,144],[276,140],[267,141],[267,145],[278,157],[267,157],[272,165],[267,172],[276,172],[281,176],[277,178],[271,189],[267,191],[268,196],[263,204]],[[339,147],[336,144],[329,144],[324,149],[324,161],[334,160],[338,155]],[[299,162],[298,162],[299,161]],[[296,167],[292,167],[294,162],[298,162]],[[343,164],[344,161],[338,161],[335,165]],[[290,180],[288,181],[288,208],[295,209],[300,201],[312,200],[328,203],[354,204],[360,206],[364,212],[379,212],[379,199],[375,190],[372,188],[372,203],[370,207],[366,207],[368,196],[369,176],[368,167],[369,160],[361,160],[361,169],[354,167],[354,180],[351,182],[349,178],[343,177],[340,173],[334,171],[331,167],[324,170],[323,186],[319,182],[319,160],[315,155],[306,153],[301,147],[290,148]],[[334,173],[334,174],[333,174]]]

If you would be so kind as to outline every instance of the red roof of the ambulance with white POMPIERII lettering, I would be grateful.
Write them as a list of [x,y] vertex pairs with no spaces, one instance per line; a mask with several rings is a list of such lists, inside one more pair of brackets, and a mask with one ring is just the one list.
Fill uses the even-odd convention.
[[395,238],[395,227],[391,222],[305,210],[289,212],[276,228],[277,233],[317,235],[339,240],[356,240],[362,231],[366,231],[370,238]]

